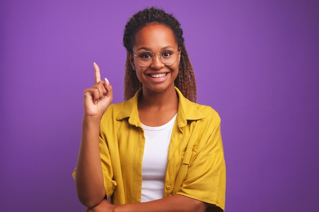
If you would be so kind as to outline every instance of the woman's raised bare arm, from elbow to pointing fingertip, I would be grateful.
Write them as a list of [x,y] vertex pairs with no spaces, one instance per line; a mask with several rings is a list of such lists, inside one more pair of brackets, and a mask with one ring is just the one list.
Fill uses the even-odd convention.
[[113,99],[112,86],[100,80],[94,63],[95,85],[84,91],[82,139],[75,172],[75,187],[82,204],[93,207],[105,197],[101,167],[99,130],[100,120]]

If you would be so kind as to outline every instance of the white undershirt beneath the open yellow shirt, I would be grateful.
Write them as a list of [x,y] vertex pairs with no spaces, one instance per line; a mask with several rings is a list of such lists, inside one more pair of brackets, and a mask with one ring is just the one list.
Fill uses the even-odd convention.
[[168,123],[159,127],[148,127],[142,124],[145,146],[142,162],[141,202],[164,197],[168,148],[176,115]]

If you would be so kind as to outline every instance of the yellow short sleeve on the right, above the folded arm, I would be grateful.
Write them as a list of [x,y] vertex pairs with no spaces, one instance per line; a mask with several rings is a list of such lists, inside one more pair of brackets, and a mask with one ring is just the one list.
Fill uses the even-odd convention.
[[[220,118],[206,122],[197,133],[194,146],[186,149],[182,166],[187,173],[176,194],[225,207],[226,167],[220,133]],[[196,143],[201,143],[197,145]]]

